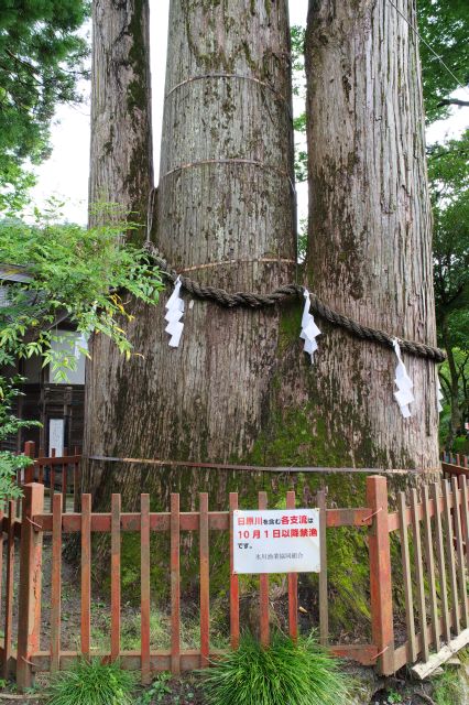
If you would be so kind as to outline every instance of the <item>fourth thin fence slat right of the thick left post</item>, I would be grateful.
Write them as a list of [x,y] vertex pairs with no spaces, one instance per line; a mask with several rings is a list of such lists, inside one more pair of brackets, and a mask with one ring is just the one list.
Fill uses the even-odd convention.
[[141,676],[143,685],[148,685],[152,680],[150,670],[150,495],[142,495],[140,502]]

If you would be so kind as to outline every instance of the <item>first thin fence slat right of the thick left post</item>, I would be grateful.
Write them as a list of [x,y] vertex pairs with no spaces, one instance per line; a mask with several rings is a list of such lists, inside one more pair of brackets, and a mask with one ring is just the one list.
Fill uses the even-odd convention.
[[61,665],[62,495],[52,507],[51,673]]

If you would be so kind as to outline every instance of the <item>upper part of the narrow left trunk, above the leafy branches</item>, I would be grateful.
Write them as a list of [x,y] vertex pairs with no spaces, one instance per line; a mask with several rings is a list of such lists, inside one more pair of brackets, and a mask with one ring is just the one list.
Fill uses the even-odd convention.
[[91,86],[90,208],[119,204],[142,242],[153,189],[148,0],[94,1]]

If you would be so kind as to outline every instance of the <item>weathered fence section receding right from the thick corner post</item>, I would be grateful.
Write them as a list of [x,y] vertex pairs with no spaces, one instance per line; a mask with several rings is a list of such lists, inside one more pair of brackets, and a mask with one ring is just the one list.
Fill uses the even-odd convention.
[[[467,571],[469,567],[469,494],[463,475],[423,485],[421,497],[399,495],[389,516],[399,536],[405,598],[406,640],[394,650],[393,668],[417,660],[424,677],[469,642]],[[430,650],[434,652],[429,661]]]

